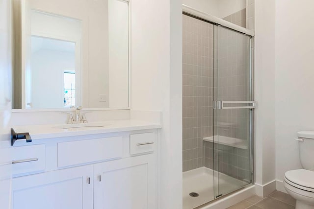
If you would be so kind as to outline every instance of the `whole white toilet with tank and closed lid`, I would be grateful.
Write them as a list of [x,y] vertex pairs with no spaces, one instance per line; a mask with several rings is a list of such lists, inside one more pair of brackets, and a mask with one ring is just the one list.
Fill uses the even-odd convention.
[[314,131],[298,132],[299,156],[303,169],[285,173],[285,188],[296,209],[314,209]]

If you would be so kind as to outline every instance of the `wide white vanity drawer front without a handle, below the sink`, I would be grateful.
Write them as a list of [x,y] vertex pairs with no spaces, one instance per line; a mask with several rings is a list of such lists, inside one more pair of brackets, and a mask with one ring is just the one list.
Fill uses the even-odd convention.
[[58,167],[121,158],[122,137],[58,143]]

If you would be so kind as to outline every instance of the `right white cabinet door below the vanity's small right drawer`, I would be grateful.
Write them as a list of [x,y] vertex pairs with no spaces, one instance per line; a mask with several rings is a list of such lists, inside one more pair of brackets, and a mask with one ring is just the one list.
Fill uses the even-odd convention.
[[154,156],[94,164],[94,209],[156,209]]

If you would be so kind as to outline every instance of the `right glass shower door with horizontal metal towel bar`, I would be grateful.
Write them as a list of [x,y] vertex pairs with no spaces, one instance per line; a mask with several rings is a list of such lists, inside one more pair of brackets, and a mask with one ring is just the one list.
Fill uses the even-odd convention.
[[214,28],[214,197],[252,183],[252,37]]

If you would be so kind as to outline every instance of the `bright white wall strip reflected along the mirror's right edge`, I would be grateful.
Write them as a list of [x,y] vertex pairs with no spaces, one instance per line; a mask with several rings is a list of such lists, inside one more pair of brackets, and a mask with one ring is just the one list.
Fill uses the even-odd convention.
[[129,4],[108,0],[109,107],[129,107]]

